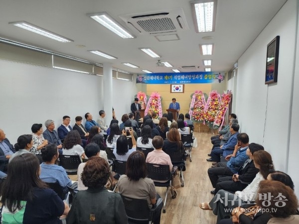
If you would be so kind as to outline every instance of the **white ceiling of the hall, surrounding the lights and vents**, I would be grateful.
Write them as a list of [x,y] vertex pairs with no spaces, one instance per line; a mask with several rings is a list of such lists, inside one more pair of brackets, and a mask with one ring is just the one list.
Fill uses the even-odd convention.
[[[218,0],[214,32],[197,33],[189,0],[0,0],[0,36],[63,53],[95,63],[112,63],[114,68],[132,73],[204,71],[203,59],[212,60],[212,71],[230,70],[242,53],[278,12],[286,0]],[[128,14],[144,14],[181,9],[188,29],[178,30],[179,40],[158,41],[149,34],[138,34],[120,17]],[[136,38],[123,39],[100,25],[87,13],[108,12]],[[27,21],[50,30],[74,42],[61,43],[8,24]],[[203,37],[210,36],[211,39]],[[273,37],[274,38],[274,37]],[[199,44],[213,43],[211,56],[200,54]],[[150,47],[161,61],[173,68],[156,67],[151,58],[139,48]],[[117,57],[105,59],[88,52],[101,50]],[[266,46],[265,46],[266,58]],[[131,68],[129,62],[140,68]],[[182,66],[196,66],[196,70],[184,70]]]

